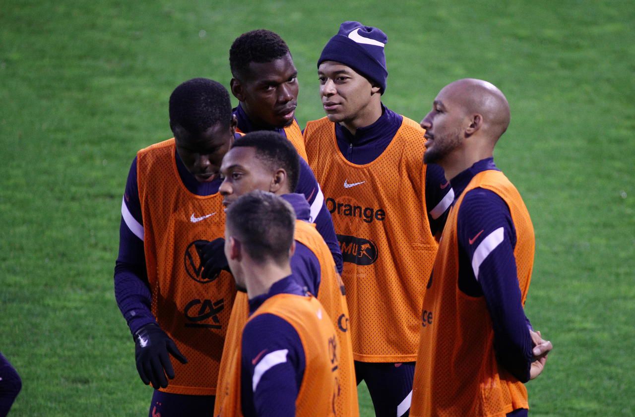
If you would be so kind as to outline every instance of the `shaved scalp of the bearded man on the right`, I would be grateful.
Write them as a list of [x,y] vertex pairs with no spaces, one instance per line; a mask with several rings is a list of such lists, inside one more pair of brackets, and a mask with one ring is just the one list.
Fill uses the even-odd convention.
[[494,84],[480,79],[464,78],[448,84],[439,93],[463,107],[465,116],[483,116],[483,133],[498,140],[509,126],[509,103]]

